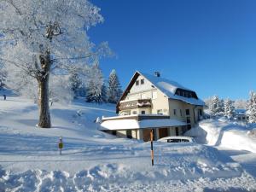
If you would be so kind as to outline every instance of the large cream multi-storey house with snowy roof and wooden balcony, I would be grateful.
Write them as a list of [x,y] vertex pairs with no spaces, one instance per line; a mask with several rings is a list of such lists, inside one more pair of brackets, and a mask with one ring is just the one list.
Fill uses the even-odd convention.
[[179,136],[203,115],[204,102],[194,90],[154,75],[136,72],[116,105],[119,116],[102,118],[100,130],[118,137],[148,141]]

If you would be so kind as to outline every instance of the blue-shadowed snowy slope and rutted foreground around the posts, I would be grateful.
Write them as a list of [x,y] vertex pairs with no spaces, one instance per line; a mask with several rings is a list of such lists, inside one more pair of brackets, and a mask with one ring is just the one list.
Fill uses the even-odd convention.
[[[256,156],[198,143],[150,144],[97,130],[113,105],[54,103],[53,128],[35,126],[30,100],[0,100],[0,191],[249,191]],[[63,137],[59,154],[57,144]]]

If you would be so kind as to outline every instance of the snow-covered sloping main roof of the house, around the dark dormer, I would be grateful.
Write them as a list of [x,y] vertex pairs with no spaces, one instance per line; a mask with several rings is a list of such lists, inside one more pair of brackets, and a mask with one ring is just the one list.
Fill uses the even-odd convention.
[[[140,73],[140,72],[137,72],[137,73]],[[154,75],[147,74],[147,73],[140,73],[140,74],[143,75],[144,78],[148,79],[148,81],[154,84],[156,88],[158,88],[161,92],[163,92],[166,96],[168,96],[171,99],[181,100],[183,102],[187,102],[193,105],[200,105],[200,106],[205,105],[205,102],[203,102],[201,99],[195,99],[193,97],[188,98],[188,97],[175,95],[177,89],[189,90],[188,88],[183,87],[183,85],[178,84],[175,81],[164,79],[161,77],[156,77]],[[189,90],[189,91],[195,92],[194,90]]]

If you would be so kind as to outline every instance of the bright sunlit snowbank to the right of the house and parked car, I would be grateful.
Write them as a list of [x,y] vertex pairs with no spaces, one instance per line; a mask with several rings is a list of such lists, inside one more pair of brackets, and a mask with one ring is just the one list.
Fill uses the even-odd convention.
[[245,125],[229,119],[207,119],[195,129],[188,131],[188,136],[195,137],[199,143],[212,146],[247,150],[256,153],[256,125]]

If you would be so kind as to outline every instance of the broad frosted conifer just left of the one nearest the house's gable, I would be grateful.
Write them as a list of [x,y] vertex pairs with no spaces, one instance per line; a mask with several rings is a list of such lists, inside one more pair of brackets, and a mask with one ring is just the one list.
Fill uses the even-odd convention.
[[107,102],[107,90],[104,83],[102,70],[96,62],[91,67],[90,81],[86,88],[86,102]]

